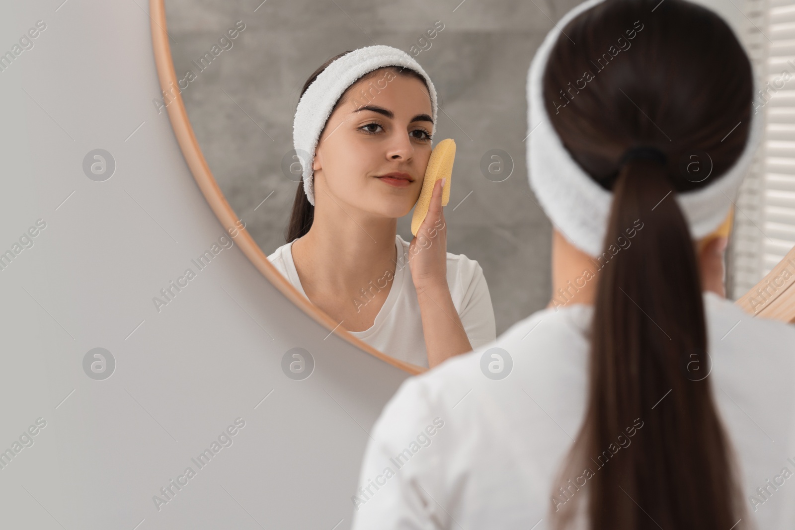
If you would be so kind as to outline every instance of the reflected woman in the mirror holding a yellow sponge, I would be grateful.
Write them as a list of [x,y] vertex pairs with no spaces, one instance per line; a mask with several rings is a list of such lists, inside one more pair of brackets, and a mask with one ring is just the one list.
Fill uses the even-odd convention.
[[304,179],[287,243],[268,257],[352,335],[431,367],[496,335],[483,269],[447,252],[444,182],[417,237],[397,234],[435,126],[436,90],[407,53],[377,45],[328,60],[301,91],[293,137]]

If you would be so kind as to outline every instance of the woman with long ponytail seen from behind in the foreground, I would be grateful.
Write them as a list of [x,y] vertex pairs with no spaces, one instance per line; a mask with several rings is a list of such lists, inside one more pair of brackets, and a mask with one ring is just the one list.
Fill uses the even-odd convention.
[[352,528],[795,528],[795,328],[723,298],[710,235],[762,131],[735,34],[588,0],[528,83],[553,300],[401,385]]

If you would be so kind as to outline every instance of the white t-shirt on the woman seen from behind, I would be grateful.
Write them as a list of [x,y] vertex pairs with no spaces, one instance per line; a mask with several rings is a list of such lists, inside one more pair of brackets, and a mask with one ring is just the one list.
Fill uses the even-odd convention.
[[[795,327],[711,292],[704,304],[708,377],[745,506],[760,530],[792,530]],[[537,311],[496,342],[406,379],[371,429],[351,528],[551,528],[553,486],[563,486],[556,478],[584,417],[592,315],[582,304]],[[513,361],[498,381],[481,371],[494,346]]]

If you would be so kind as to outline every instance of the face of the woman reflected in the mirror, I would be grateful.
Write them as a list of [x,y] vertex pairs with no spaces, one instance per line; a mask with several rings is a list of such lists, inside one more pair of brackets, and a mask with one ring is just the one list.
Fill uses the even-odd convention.
[[[392,70],[359,79],[318,142],[312,165],[316,205],[330,203],[331,195],[345,211],[347,205],[380,217],[407,215],[431,156],[431,114],[430,95],[419,79]],[[382,178],[394,172],[408,180]]]

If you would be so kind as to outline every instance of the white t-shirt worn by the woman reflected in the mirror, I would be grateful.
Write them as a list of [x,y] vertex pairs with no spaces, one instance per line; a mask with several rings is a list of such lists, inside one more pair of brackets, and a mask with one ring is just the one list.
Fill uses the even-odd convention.
[[[292,247],[293,242],[280,246],[268,256],[268,260],[298,292],[306,296],[293,263]],[[425,349],[425,335],[422,333],[420,303],[409,269],[409,242],[396,234],[395,248],[397,263],[386,301],[369,329],[351,331],[351,335],[394,358],[427,368],[428,350]],[[472,349],[493,341],[497,336],[494,309],[491,307],[489,288],[479,263],[463,254],[448,252],[447,280],[453,305],[458,311]],[[386,277],[382,277],[362,287],[368,289],[370,285],[374,290],[380,290],[381,287],[386,288],[388,283]],[[367,302],[365,295],[359,296],[357,300],[360,304]],[[355,304],[353,298],[351,304]]]

